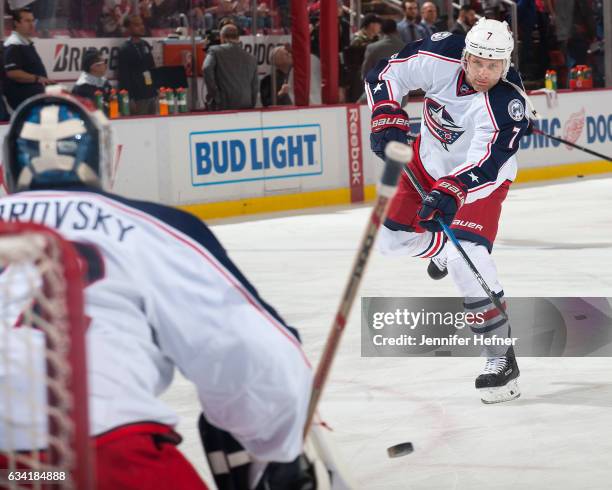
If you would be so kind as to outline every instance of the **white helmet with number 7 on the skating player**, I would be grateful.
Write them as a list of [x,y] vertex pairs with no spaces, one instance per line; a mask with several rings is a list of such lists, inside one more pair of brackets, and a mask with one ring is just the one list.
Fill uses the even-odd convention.
[[474,27],[465,36],[463,61],[465,63],[468,53],[480,58],[504,60],[502,78],[505,78],[510,69],[510,57],[513,49],[514,38],[508,23],[483,17],[474,24]]

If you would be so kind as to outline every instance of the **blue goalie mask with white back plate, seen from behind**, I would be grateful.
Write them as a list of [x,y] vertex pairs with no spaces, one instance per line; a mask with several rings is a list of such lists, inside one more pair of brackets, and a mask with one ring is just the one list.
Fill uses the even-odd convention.
[[57,90],[32,97],[17,108],[4,138],[7,189],[105,188],[111,147],[102,112]]

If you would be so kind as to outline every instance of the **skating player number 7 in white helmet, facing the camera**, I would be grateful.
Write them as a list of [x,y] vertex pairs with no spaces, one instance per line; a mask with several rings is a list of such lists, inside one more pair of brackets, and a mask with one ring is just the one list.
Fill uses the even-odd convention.
[[[403,175],[379,249],[430,259],[428,273],[450,273],[467,311],[486,312],[475,333],[509,336],[510,325],[454,246],[447,244],[440,216],[449,225],[492,291],[503,289],[491,257],[502,203],[516,177],[514,154],[528,127],[529,103],[519,74],[510,66],[514,48],[508,25],[481,19],[466,37],[439,32],[407,44],[383,60],[366,77],[372,108],[372,150],[382,157],[389,141],[407,141],[408,115],[402,98],[410,90],[425,92],[421,132],[408,164],[429,193],[422,201]],[[485,403],[520,395],[514,350],[489,346],[476,388]]]

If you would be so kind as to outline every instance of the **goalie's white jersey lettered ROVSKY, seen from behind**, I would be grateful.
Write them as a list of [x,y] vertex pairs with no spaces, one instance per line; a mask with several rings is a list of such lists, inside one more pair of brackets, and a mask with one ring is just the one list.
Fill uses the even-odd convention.
[[[300,454],[309,362],[295,331],[259,297],[201,221],[91,189],[13,194],[0,199],[0,219],[55,228],[88,261],[93,435],[142,421],[176,424],[177,415],[158,397],[178,367],[195,384],[206,418],[255,458],[290,461]],[[9,331],[19,336],[22,330]],[[6,344],[0,335],[0,355]],[[10,356],[19,356],[16,345]],[[7,377],[0,363],[0,388]],[[24,373],[21,382],[28,379]],[[44,396],[42,387],[34,389]],[[2,417],[22,424],[18,441],[30,449],[27,407],[9,411],[3,403],[0,396]],[[38,423],[42,428],[46,420],[39,417]],[[5,437],[0,429],[0,449]]]

